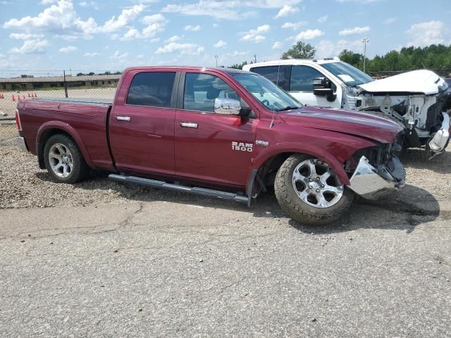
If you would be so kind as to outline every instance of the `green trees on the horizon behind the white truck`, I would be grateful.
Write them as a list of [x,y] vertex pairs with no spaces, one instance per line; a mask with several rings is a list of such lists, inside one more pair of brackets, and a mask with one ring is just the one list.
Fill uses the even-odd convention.
[[[282,59],[288,58],[314,58],[316,49],[311,44],[297,42],[288,51],[282,54]],[[363,54],[350,50],[343,50],[338,55],[341,61],[350,63],[354,67],[363,69]],[[252,63],[252,62],[251,62]],[[242,68],[247,61],[235,63],[231,68]],[[384,55],[365,58],[365,71],[367,73],[403,72],[416,69],[431,69],[440,75],[451,73],[451,45],[431,44],[426,47],[403,47],[400,51],[389,51]]]

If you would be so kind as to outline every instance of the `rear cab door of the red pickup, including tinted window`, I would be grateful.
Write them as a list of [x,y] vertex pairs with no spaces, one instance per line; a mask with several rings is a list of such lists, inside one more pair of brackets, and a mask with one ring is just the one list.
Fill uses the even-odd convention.
[[111,152],[119,170],[175,173],[176,79],[173,71],[127,73],[109,122]]

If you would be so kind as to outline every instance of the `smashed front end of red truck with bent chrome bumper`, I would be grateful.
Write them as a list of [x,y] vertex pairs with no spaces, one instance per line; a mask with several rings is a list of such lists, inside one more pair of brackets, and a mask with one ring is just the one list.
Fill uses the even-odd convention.
[[404,187],[404,166],[393,154],[394,149],[394,145],[381,144],[357,151],[347,162],[348,172],[352,173],[348,187],[369,200],[381,199]]

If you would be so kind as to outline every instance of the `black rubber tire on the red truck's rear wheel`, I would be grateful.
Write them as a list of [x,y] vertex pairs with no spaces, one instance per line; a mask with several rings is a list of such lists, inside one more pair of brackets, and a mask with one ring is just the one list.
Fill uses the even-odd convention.
[[[49,160],[49,151],[54,144],[63,144],[70,151],[72,155],[73,168],[70,170],[70,174],[67,177],[60,177],[54,173],[51,169]],[[78,145],[75,141],[65,134],[55,134],[51,136],[44,146],[44,162],[47,171],[50,174],[51,180],[57,183],[75,183],[85,180],[89,175],[89,166],[85,162]]]

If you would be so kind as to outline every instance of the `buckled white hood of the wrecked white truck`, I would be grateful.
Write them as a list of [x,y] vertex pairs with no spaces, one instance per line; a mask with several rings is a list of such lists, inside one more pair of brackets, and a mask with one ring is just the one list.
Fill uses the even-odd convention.
[[447,87],[445,80],[431,70],[414,70],[357,86],[370,93],[409,92],[426,95],[438,94]]

